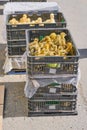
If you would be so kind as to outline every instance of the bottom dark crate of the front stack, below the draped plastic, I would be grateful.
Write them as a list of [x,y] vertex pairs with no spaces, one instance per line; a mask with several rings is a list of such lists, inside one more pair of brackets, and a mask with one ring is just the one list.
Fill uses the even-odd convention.
[[28,100],[29,112],[68,112],[76,110],[76,100]]

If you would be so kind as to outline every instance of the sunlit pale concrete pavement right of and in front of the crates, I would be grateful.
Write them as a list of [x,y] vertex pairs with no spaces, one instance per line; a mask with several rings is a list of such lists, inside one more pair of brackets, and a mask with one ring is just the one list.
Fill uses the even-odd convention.
[[[49,0],[52,1],[52,0]],[[80,59],[81,79],[78,86],[78,115],[56,117],[4,118],[3,130],[87,130],[87,1],[54,0],[68,23],[73,39],[84,53]],[[3,22],[3,21],[2,21]],[[17,78],[20,81],[21,77]],[[5,79],[8,81],[8,79]],[[1,80],[3,82],[3,80]]]

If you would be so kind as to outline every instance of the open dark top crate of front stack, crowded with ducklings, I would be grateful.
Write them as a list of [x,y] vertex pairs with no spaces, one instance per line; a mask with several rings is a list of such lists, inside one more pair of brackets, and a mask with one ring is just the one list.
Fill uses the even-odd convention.
[[[32,42],[34,40],[34,38],[39,38],[41,36],[46,36],[46,35],[50,35],[51,33],[55,32],[56,34],[59,34],[61,32],[65,32],[67,34],[66,36],[66,41],[67,42],[72,42],[74,49],[75,49],[75,56],[31,56],[29,55],[29,51],[28,51],[28,44],[30,42]],[[30,63],[58,63],[58,62],[78,62],[79,60],[79,52],[78,49],[76,48],[76,45],[72,39],[72,36],[69,32],[68,29],[63,29],[63,28],[47,28],[47,29],[31,29],[31,30],[27,30],[26,32],[26,36],[27,36],[27,62]]]

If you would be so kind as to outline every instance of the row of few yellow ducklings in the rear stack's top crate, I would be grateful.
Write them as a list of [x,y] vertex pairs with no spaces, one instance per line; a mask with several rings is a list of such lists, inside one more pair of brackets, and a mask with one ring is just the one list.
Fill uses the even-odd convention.
[[40,24],[40,23],[55,23],[54,14],[50,14],[50,19],[47,19],[46,21],[43,21],[41,17],[38,17],[36,20],[31,20],[27,16],[27,14],[23,14],[23,16],[17,20],[16,18],[12,18],[9,20],[9,24],[15,25],[15,24]]

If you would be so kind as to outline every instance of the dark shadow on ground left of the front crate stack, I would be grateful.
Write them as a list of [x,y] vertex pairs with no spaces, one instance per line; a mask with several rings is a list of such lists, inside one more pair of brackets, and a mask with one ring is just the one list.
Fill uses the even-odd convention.
[[24,95],[25,83],[5,83],[4,118],[28,116],[28,101]]

